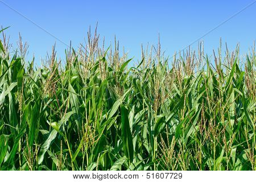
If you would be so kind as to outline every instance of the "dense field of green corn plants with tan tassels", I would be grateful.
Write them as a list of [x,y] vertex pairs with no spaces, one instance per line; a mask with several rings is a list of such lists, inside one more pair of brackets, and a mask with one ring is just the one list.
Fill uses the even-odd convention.
[[1,170],[256,170],[254,47],[159,44],[130,66],[88,32],[37,67],[21,37],[0,43]]

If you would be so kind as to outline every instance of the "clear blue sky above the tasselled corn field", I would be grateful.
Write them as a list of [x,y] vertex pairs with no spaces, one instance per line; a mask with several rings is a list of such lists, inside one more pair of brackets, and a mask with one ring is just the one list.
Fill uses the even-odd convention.
[[[194,40],[216,27],[253,0],[241,1],[14,1],[1,0],[73,47],[84,42],[88,27],[98,22],[98,33],[105,36],[106,46],[114,35],[129,57],[139,59],[141,43],[156,45],[160,34],[161,47],[172,56]],[[0,26],[11,26],[6,34],[16,46],[18,32],[30,45],[31,57],[45,57],[56,42],[57,55],[64,57],[67,48],[46,32],[0,2]],[[256,39],[256,3],[205,36],[205,50],[212,53],[220,37],[233,49],[240,43],[246,53]],[[197,43],[193,45],[197,47]]]

